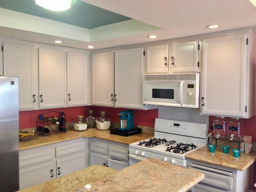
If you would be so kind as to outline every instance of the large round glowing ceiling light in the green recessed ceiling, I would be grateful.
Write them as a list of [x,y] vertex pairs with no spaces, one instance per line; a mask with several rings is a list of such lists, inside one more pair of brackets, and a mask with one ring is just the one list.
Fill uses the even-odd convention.
[[52,11],[63,11],[71,7],[72,0],[36,0],[36,4]]

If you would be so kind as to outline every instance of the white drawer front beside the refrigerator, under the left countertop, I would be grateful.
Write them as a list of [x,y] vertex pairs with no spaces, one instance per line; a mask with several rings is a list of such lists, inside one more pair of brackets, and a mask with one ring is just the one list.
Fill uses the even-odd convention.
[[52,161],[54,158],[54,150],[47,150],[35,154],[29,154],[25,156],[20,156],[19,158],[19,167],[26,167],[35,164],[42,164],[48,161]]

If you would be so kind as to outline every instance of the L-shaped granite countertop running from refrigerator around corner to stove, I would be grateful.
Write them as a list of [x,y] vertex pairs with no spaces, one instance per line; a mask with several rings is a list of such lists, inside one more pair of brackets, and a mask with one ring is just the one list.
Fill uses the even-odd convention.
[[49,144],[73,140],[73,139],[82,138],[82,137],[88,137],[88,138],[94,137],[94,138],[114,141],[114,142],[123,143],[123,144],[130,144],[140,140],[152,138],[153,136],[154,134],[142,132],[140,134],[124,137],[124,136],[110,134],[110,130],[98,130],[97,128],[88,128],[84,131],[76,131],[74,129],[68,129],[66,133],[52,134],[44,137],[36,136],[32,140],[20,141],[19,150],[26,150],[26,149],[35,148],[35,147],[46,146]]

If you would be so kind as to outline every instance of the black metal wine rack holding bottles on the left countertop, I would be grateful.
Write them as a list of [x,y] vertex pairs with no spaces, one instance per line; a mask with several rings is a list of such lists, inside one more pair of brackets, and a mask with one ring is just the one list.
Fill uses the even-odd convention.
[[[60,124],[52,124],[50,122],[44,121],[44,117],[58,117],[61,122]],[[39,114],[36,118],[36,130],[39,135],[46,136],[57,133],[67,132],[67,119],[64,112],[50,111],[44,114]]]

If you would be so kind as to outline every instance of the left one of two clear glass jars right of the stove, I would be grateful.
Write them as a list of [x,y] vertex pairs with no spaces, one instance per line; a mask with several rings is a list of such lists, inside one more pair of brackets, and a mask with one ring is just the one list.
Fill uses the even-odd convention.
[[216,117],[213,121],[213,136],[216,138],[226,138],[227,119]]

